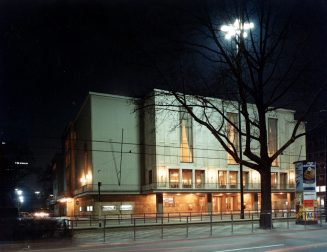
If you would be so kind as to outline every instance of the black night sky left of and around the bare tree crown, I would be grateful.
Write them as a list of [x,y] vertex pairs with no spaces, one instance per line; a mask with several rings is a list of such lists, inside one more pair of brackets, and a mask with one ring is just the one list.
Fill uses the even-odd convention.
[[[310,43],[318,58],[327,56],[326,2],[297,6],[299,22],[315,23]],[[1,0],[0,140],[27,142],[44,165],[89,90],[140,95],[157,86],[138,63],[140,43],[176,38],[172,13],[191,3]]]

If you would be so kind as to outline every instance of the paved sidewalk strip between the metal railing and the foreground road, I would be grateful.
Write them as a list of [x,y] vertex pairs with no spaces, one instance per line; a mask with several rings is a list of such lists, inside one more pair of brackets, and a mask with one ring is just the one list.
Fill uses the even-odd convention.
[[137,225],[137,226],[109,226],[107,228],[93,227],[92,229],[74,229],[72,239],[52,239],[40,241],[20,241],[0,243],[0,251],[22,251],[39,249],[46,251],[51,248],[62,248],[63,251],[73,248],[83,248],[95,244],[133,244],[156,241],[172,241],[185,239],[205,239],[215,237],[237,237],[244,235],[257,235],[264,233],[281,232],[309,232],[310,230],[326,230],[327,223],[322,225],[296,225],[292,220],[289,223],[275,221],[272,229],[260,229],[258,221],[249,223],[246,221],[217,223],[181,223],[169,225]]

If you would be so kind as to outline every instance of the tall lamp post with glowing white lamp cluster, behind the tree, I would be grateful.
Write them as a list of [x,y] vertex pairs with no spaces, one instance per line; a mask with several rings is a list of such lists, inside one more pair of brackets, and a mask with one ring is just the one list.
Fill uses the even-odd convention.
[[[239,19],[236,19],[233,24],[222,25],[221,31],[225,33],[225,39],[230,40],[233,37],[236,39],[236,57],[238,64],[240,63],[239,55],[239,43],[247,37],[247,30],[253,29],[254,24],[252,22],[241,22]],[[239,94],[240,96],[240,94]],[[239,97],[240,98],[240,97]],[[242,160],[242,123],[241,123],[241,103],[238,101],[238,138],[239,138],[239,156]],[[243,164],[240,162],[240,194],[241,194],[241,212],[240,218],[244,219],[244,188],[243,188]]]

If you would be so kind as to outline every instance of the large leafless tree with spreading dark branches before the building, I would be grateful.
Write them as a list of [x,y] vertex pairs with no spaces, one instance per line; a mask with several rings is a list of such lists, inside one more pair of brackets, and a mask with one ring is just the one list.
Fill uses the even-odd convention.
[[[177,102],[169,104],[169,107],[184,107],[197,123],[212,133],[237,163],[260,173],[260,226],[270,228],[272,163],[296,139],[305,135],[303,122],[320,90],[307,94],[305,109],[294,122],[291,137],[271,153],[266,114],[289,105],[291,97],[295,97],[299,86],[302,86],[302,77],[308,71],[308,65],[300,53],[306,40],[290,33],[296,29],[292,23],[291,5],[285,8],[283,1],[260,0],[233,3],[228,6],[220,3],[216,12],[217,5],[209,2],[193,13],[195,22],[192,25],[190,22],[188,26],[178,25],[187,27],[187,39],[179,40],[182,46],[178,47],[178,55],[183,56],[176,57],[178,63],[174,67],[163,67],[165,64],[158,64],[151,56],[148,59],[151,59],[152,66],[169,90],[159,95],[174,97]],[[185,18],[187,11],[181,16]],[[245,30],[245,24],[251,22],[254,29]],[[234,24],[234,28],[237,26],[239,29],[234,30],[234,36],[230,36],[229,40],[225,39],[226,34],[221,29],[224,23]],[[183,28],[179,31],[185,32]],[[229,118],[226,106],[217,105],[208,97],[233,101],[228,106],[239,110],[242,126]],[[167,104],[162,106],[165,109]],[[194,107],[201,108],[202,113],[196,113]],[[219,125],[212,111],[219,115]],[[224,127],[226,123],[232,125],[241,136],[242,152],[229,139]]]

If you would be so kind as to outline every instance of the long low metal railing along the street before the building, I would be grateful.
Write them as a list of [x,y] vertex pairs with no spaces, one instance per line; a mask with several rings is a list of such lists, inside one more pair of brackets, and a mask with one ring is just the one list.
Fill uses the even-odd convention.
[[[272,211],[268,213],[270,216],[271,225],[268,229],[284,228],[284,229],[309,229],[312,226],[322,226],[325,216],[324,211],[307,211],[306,213],[312,213],[312,216],[317,216],[316,223],[312,223],[310,220],[304,220],[302,225],[295,225],[295,212],[290,210],[285,211]],[[309,214],[310,215],[310,214]],[[78,232],[79,225],[82,225],[83,220],[71,220],[74,230]],[[87,221],[87,220],[84,220]],[[103,241],[110,241],[111,239],[163,239],[164,237],[172,237],[176,239],[176,236],[181,238],[203,237],[208,236],[224,236],[228,234],[240,233],[240,232],[256,232],[260,226],[260,212],[248,212],[246,219],[239,219],[235,213],[225,214],[200,214],[193,215],[192,213],[175,213],[172,214],[155,214],[155,215],[131,215],[118,217],[116,220],[113,218],[102,218],[89,220],[101,222],[101,225],[97,225],[96,230],[102,232],[96,232],[94,235],[102,235]],[[119,224],[119,225],[117,225]],[[309,225],[315,224],[315,225]],[[101,227],[101,228],[99,228]],[[117,229],[117,227],[119,227]],[[201,230],[200,230],[201,229]],[[119,234],[118,234],[119,233]],[[99,239],[99,238],[98,238]]]

